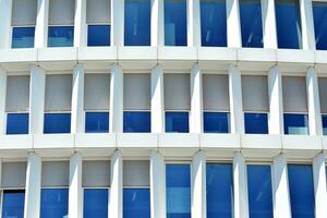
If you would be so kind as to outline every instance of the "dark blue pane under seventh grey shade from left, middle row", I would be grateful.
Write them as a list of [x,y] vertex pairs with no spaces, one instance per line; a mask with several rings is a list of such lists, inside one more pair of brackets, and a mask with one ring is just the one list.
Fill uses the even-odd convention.
[[245,133],[247,134],[268,134],[267,113],[244,113]]

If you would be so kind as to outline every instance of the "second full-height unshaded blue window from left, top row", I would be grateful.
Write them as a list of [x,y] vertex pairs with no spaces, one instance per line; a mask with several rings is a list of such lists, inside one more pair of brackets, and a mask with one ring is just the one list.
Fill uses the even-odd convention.
[[187,46],[185,0],[165,0],[165,45]]

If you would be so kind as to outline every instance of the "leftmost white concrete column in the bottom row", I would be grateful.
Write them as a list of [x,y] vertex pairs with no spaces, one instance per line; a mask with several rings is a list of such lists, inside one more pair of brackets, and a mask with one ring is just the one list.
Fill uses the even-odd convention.
[[27,157],[26,190],[25,190],[25,218],[39,217],[41,187],[41,158],[35,153]]

